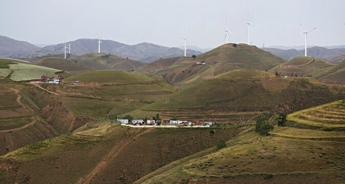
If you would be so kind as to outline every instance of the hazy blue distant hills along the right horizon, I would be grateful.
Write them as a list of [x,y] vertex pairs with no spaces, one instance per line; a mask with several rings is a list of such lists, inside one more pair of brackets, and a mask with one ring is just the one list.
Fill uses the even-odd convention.
[[[283,50],[283,49],[275,49],[275,48],[265,48],[265,51],[271,52],[272,54],[281,57],[286,60],[290,60],[295,57],[304,56],[305,51],[303,50],[295,50],[295,49],[289,49],[289,50]],[[312,47],[308,48],[308,56],[312,56],[315,58],[326,58],[331,59],[337,55],[344,55],[345,49],[326,49],[323,47]]]

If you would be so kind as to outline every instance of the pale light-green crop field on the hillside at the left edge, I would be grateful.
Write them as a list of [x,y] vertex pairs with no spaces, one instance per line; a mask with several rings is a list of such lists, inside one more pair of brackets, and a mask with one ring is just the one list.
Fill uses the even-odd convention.
[[39,80],[42,75],[57,78],[58,75],[71,76],[71,73],[54,68],[32,64],[16,63],[14,60],[0,60],[0,76],[13,81]]

